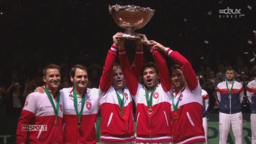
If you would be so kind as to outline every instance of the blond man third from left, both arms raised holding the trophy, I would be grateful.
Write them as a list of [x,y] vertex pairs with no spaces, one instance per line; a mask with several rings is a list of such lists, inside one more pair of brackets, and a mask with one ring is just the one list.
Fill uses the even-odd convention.
[[[121,67],[115,64],[118,47],[124,46],[123,33],[113,36],[113,44],[108,50],[103,73],[100,78],[101,136],[103,144],[132,144],[134,140],[134,118],[132,98],[124,83]],[[136,41],[136,55],[133,72],[138,79],[142,67],[142,46]],[[119,51],[119,54],[125,53]]]

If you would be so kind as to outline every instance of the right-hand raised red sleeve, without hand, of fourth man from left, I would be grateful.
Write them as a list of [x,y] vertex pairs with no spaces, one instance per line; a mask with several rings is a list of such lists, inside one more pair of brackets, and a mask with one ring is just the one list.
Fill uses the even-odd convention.
[[160,52],[158,52],[157,50],[153,50],[153,46],[150,46],[149,50],[154,58],[154,61],[156,62],[162,87],[164,88],[165,92],[168,92],[172,89],[172,83],[170,80],[169,70],[166,61],[162,54],[160,54]]

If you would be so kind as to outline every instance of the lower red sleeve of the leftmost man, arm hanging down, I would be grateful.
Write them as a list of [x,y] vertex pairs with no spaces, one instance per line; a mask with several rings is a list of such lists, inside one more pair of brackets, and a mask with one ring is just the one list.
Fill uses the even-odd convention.
[[25,144],[27,140],[28,131],[22,130],[22,125],[28,125],[34,118],[34,113],[28,110],[22,110],[20,118],[18,120],[17,130],[16,130],[16,143]]

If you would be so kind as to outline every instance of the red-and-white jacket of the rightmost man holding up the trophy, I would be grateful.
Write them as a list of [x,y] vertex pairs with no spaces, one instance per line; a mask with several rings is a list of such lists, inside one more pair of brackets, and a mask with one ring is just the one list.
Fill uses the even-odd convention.
[[[198,84],[196,74],[191,64],[181,54],[168,49],[166,54],[180,65],[186,80],[186,86],[180,90],[181,97],[178,104],[178,119],[175,120],[175,111],[172,108],[172,136],[173,142],[178,144],[190,144],[205,141],[202,125],[203,100],[202,90]],[[178,101],[178,93],[173,90],[174,104]]]

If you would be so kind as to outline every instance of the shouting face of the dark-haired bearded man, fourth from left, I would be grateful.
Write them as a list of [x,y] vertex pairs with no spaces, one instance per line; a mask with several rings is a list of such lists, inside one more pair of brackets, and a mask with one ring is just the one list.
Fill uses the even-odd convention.
[[156,73],[154,68],[145,68],[143,71],[143,82],[148,90],[154,89],[154,87],[158,84],[158,80],[159,75]]

